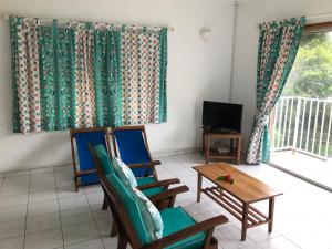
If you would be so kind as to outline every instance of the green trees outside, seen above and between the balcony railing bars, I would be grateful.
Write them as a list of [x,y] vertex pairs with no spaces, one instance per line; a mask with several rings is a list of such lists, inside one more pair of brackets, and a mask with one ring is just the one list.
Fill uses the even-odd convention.
[[[297,54],[297,59],[294,61],[292,71],[289,75],[288,82],[282,92],[282,96],[293,96],[293,97],[308,97],[308,98],[319,98],[319,100],[331,100],[332,98],[332,31],[331,32],[318,32],[303,34],[301,39],[301,43],[299,46],[299,51]],[[276,127],[273,128],[274,141],[282,137],[281,143],[287,144],[288,136],[290,136],[290,141],[293,139],[294,136],[300,137],[300,132],[294,134],[294,121],[295,121],[295,110],[299,107],[300,100],[297,98],[293,102],[293,112],[290,116],[290,108],[286,112],[286,106],[283,106],[283,111],[279,110],[276,114],[277,116],[282,115],[282,118],[279,121],[277,118]],[[284,102],[286,103],[286,102]],[[332,139],[330,138],[329,143],[326,143],[328,137],[328,126],[329,126],[329,117],[330,110],[332,105],[328,104],[325,108],[325,118],[324,124],[322,122],[323,116],[323,104],[319,104],[314,102],[312,105],[312,113],[310,114],[310,102],[301,101],[301,117],[304,118],[299,120],[299,128],[304,127],[303,137],[307,137],[309,133],[309,148],[318,145],[320,141],[320,131],[323,127],[323,143],[321,144],[321,155],[325,152],[328,146],[328,157],[332,156]],[[303,110],[303,104],[305,103],[305,110]],[[290,102],[289,102],[290,104]],[[318,124],[315,136],[313,137],[314,123],[315,123],[315,111],[318,110]],[[305,113],[302,113],[305,111]],[[288,118],[287,118],[288,116]],[[291,126],[289,129],[283,132],[284,122],[291,122]],[[280,123],[281,122],[281,123]],[[280,124],[279,124],[280,123]],[[288,127],[287,123],[287,126]],[[308,128],[308,126],[310,127]],[[289,134],[288,134],[289,133]],[[286,136],[283,136],[283,135]],[[331,136],[331,135],[330,135]],[[298,148],[305,147],[305,139],[302,139],[302,143],[298,141],[297,145],[293,145]],[[314,154],[319,154],[319,147],[314,146]]]

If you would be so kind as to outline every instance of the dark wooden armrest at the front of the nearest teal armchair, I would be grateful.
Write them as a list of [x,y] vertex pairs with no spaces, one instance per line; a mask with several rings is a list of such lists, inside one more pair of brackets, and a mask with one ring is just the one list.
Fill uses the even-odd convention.
[[197,222],[190,227],[187,227],[177,232],[170,234],[162,239],[157,239],[146,246],[143,246],[142,249],[156,249],[156,248],[165,248],[177,241],[184,240],[188,237],[191,237],[196,234],[208,231],[215,228],[218,225],[228,222],[228,219],[225,216],[216,216],[210,219],[206,219],[201,222]]

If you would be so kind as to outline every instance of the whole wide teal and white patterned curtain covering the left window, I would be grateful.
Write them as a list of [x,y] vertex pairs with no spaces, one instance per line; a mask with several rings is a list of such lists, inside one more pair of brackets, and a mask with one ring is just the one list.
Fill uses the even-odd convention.
[[13,131],[166,121],[167,29],[10,18]]

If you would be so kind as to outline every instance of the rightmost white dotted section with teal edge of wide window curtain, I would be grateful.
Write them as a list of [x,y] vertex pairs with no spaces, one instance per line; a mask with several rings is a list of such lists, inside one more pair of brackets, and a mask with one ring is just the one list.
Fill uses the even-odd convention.
[[122,120],[125,124],[166,121],[163,115],[166,113],[166,29],[134,28],[121,35]]

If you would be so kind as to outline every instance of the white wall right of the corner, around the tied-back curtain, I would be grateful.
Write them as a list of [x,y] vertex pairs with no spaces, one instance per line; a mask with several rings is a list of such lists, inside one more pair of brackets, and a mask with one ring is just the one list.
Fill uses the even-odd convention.
[[[332,21],[331,0],[248,0],[238,8],[235,45],[235,68],[232,95],[234,102],[245,104],[245,144],[252,128],[256,110],[256,68],[259,30],[257,23],[284,18],[307,15],[309,22]],[[312,18],[311,18],[312,17]]]

